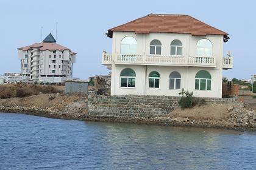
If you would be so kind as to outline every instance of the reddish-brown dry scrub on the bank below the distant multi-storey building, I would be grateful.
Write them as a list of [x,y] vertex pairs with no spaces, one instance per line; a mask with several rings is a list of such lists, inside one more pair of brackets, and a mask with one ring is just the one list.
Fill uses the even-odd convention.
[[0,85],[0,98],[29,97],[32,95],[50,93],[62,93],[62,89],[50,85],[30,85],[30,84],[3,84]]

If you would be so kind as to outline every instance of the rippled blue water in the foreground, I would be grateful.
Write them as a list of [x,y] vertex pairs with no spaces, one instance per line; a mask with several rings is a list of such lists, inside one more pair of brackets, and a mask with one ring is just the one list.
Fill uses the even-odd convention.
[[256,169],[256,132],[0,114],[0,169]]

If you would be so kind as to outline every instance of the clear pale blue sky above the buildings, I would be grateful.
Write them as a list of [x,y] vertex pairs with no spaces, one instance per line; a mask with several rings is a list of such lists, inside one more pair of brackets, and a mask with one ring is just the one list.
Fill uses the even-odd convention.
[[111,53],[107,29],[149,13],[184,14],[229,33],[233,69],[224,77],[250,78],[256,73],[256,1],[13,1],[0,0],[0,74],[20,72],[17,48],[41,41],[51,32],[57,43],[77,53],[73,77],[87,79],[110,70],[101,65],[103,50]]

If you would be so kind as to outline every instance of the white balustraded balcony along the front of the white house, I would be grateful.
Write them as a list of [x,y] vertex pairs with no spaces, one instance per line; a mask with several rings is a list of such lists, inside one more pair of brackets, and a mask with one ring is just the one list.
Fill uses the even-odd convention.
[[102,64],[110,67],[115,64],[216,67],[215,57],[205,56],[165,56],[165,55],[117,55],[102,53]]

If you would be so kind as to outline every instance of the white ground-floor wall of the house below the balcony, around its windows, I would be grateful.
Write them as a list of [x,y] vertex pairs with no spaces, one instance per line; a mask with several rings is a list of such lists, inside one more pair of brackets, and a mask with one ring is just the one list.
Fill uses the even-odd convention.
[[[130,68],[136,73],[135,87],[120,87],[120,73],[123,69]],[[113,69],[113,68],[112,68]],[[211,90],[195,90],[195,76],[200,70],[207,70],[212,77]],[[149,88],[149,73],[157,71],[160,73],[160,88]],[[173,71],[181,75],[180,89],[169,89],[169,74]],[[179,66],[115,66],[112,72],[112,95],[168,95],[179,96],[179,92],[188,90],[196,97],[218,97],[221,98],[221,87],[219,86],[219,70],[201,67],[179,67]]]

